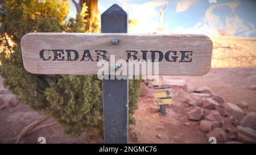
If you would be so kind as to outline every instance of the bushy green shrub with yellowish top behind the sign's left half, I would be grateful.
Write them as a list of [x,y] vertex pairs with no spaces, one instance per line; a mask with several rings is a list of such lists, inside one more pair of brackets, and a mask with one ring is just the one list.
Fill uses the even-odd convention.
[[[13,50],[1,51],[5,87],[20,101],[51,115],[64,132],[79,136],[98,129],[102,133],[102,81],[96,76],[44,76],[23,68],[20,39],[28,32],[84,32],[82,15],[67,19],[68,1],[9,0],[0,2],[1,39],[9,36]],[[8,47],[7,44],[2,44]],[[139,81],[129,81],[130,124],[139,99]]]

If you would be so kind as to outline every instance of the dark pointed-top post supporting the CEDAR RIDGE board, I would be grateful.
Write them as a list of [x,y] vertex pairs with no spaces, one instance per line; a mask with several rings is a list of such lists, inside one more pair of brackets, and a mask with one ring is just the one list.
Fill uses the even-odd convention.
[[[101,14],[101,32],[127,33],[127,21],[127,13],[114,4]],[[128,141],[128,86],[128,79],[103,80],[104,143]]]

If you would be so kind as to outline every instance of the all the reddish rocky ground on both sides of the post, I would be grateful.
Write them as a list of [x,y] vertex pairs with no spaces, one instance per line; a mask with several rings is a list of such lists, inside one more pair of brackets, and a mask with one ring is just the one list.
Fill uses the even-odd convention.
[[[256,143],[256,44],[255,39],[212,37],[212,69],[204,76],[160,77],[159,86],[173,86],[174,101],[166,116],[154,105],[154,89],[144,81],[137,124],[129,143]],[[103,143],[65,135],[53,118],[19,103],[2,86],[0,77],[0,143]],[[152,82],[149,83],[152,85]],[[31,124],[32,123],[32,124]],[[26,130],[30,129],[31,130]],[[28,132],[25,132],[28,131]]]

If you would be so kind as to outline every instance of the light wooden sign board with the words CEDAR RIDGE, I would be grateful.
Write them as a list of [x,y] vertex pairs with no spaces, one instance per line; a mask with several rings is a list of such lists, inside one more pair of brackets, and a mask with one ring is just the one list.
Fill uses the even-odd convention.
[[114,55],[115,61],[158,61],[159,75],[199,76],[212,58],[205,35],[27,33],[21,45],[24,68],[35,74],[97,74],[98,61]]

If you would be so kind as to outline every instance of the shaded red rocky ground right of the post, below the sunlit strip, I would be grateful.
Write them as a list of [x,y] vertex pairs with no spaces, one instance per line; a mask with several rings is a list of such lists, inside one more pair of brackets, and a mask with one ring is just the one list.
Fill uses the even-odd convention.
[[[153,89],[142,83],[133,143],[209,143],[210,137],[217,143],[256,143],[256,91],[251,85],[256,79],[238,80],[245,72],[251,77],[256,69],[211,69],[202,77],[160,78],[153,85],[173,86],[174,102],[166,116],[154,106]],[[221,77],[228,85],[216,82]],[[191,84],[195,81],[196,87]]]

